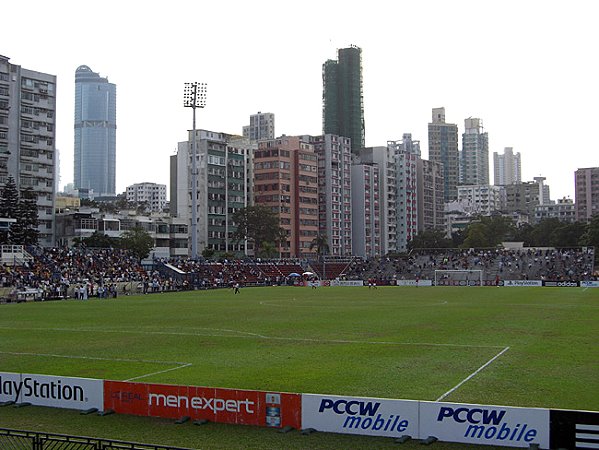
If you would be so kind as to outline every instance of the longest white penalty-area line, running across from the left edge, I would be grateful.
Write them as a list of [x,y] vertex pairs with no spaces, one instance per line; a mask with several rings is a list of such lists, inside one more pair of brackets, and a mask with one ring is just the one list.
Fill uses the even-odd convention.
[[[359,341],[350,339],[313,339],[313,338],[294,338],[294,337],[279,337],[279,336],[265,336],[257,333],[247,333],[237,331],[237,333],[245,333],[243,335],[230,335],[230,334],[210,334],[210,333],[189,333],[189,332],[171,332],[171,331],[141,331],[141,330],[95,330],[95,329],[83,329],[83,328],[13,328],[13,327],[1,327],[0,329],[7,330],[29,330],[29,331],[68,331],[75,333],[122,333],[122,334],[145,334],[145,335],[166,335],[166,336],[206,336],[206,337],[223,337],[223,338],[237,338],[237,339],[265,339],[273,341],[295,341],[295,342],[313,342],[316,344],[364,344],[364,345],[413,345],[423,347],[455,347],[455,348],[503,348],[500,345],[476,345],[476,344],[444,344],[436,342],[394,342],[394,341]],[[218,328],[207,328],[208,330],[215,331],[227,331],[232,332],[233,330],[221,330]],[[178,363],[184,364],[184,363]]]

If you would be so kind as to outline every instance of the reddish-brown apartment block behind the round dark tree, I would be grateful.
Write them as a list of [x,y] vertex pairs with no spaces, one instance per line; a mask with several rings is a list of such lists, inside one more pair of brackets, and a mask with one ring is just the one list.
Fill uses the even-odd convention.
[[260,141],[254,154],[254,204],[271,208],[286,239],[281,258],[307,258],[318,236],[318,155],[299,136]]

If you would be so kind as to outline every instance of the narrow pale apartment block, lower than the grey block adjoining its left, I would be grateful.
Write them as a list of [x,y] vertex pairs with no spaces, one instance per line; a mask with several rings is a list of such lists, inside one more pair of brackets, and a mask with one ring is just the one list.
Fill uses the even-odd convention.
[[363,258],[380,256],[382,253],[378,165],[353,164],[351,185],[353,253]]

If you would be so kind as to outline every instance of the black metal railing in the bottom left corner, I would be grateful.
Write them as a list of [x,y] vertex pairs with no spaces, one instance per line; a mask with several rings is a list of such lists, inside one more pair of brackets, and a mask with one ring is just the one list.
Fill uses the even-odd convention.
[[136,442],[0,428],[2,450],[192,450]]

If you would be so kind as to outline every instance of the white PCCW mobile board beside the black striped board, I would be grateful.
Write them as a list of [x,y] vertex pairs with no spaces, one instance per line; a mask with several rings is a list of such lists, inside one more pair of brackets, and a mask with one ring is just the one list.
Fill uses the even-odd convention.
[[420,435],[444,442],[549,448],[549,410],[420,402]]

